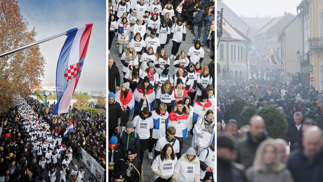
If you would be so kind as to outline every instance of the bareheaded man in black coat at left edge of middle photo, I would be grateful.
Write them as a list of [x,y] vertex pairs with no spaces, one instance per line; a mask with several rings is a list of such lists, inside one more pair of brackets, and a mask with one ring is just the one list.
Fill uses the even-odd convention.
[[[109,91],[116,94],[120,86],[120,72],[113,58],[109,58]],[[117,83],[117,84],[116,84]]]

